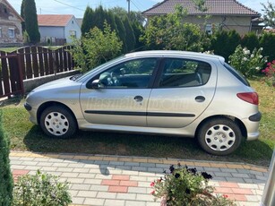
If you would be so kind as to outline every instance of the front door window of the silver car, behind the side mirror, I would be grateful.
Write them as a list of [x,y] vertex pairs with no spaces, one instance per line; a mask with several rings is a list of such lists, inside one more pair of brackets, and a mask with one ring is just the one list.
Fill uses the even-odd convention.
[[117,64],[99,73],[99,88],[139,89],[149,86],[157,58],[142,58]]

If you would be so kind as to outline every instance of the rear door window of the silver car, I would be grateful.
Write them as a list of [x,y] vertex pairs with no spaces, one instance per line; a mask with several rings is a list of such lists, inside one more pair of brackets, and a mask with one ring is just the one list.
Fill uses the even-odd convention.
[[196,60],[169,58],[166,59],[160,77],[160,88],[194,87],[208,82],[211,65]]

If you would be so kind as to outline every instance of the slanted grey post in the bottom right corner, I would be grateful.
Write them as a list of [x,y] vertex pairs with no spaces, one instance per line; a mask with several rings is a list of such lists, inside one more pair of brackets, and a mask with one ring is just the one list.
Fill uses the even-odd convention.
[[269,177],[262,193],[261,206],[275,205],[275,149],[271,159]]

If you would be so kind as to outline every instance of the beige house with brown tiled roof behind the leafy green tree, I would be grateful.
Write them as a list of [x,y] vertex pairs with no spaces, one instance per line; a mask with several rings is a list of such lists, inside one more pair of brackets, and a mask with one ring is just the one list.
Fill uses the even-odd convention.
[[[205,0],[207,9],[205,12],[199,11],[193,0],[164,0],[142,14],[150,19],[151,16],[175,13],[176,4],[182,5],[187,11],[186,22],[199,24],[208,33],[211,33],[214,27],[222,30],[236,30],[240,35],[261,29],[261,27],[253,28],[258,26],[253,20],[259,18],[261,14],[236,0]],[[208,16],[209,19],[205,21],[204,18],[198,18],[198,16]]]

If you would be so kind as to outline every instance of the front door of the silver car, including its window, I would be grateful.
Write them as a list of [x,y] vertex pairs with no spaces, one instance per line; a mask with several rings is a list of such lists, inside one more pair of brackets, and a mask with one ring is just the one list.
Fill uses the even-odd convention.
[[154,71],[158,58],[139,58],[116,64],[82,85],[81,106],[90,124],[146,126]]

